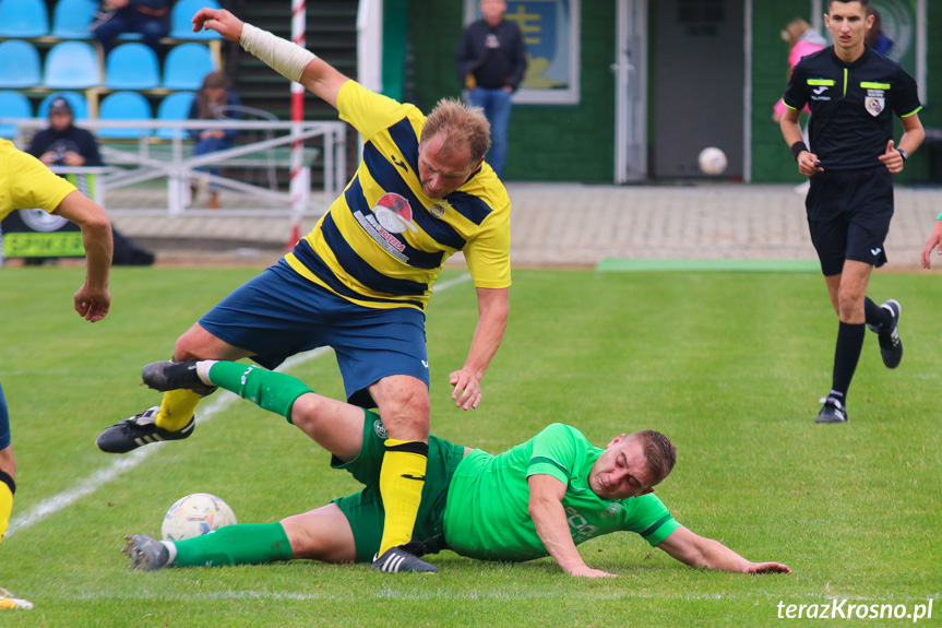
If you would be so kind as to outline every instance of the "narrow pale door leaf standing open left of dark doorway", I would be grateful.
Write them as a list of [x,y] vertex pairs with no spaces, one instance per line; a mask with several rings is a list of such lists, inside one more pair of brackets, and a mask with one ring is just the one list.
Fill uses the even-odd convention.
[[618,0],[615,182],[647,178],[647,0]]

